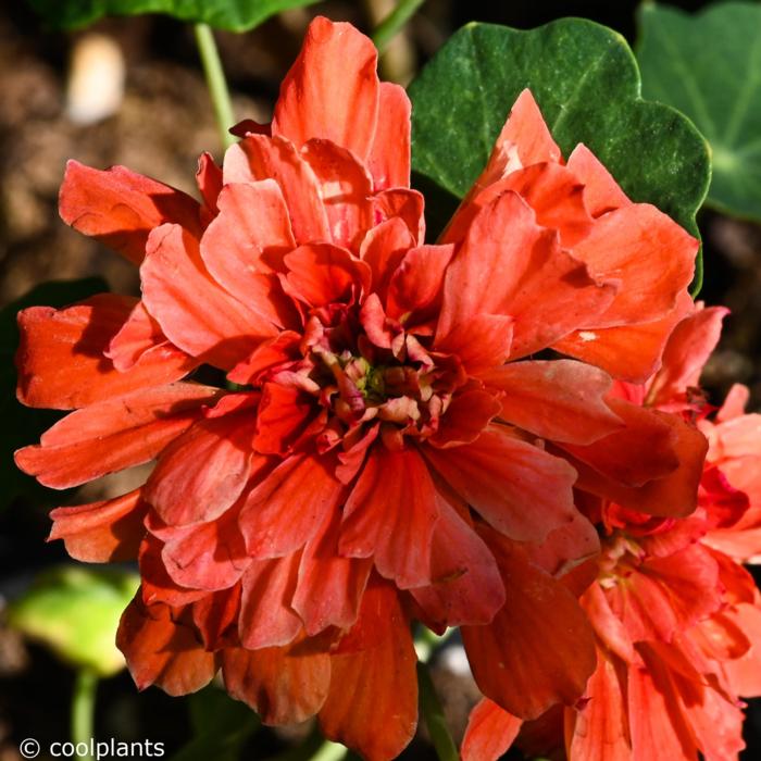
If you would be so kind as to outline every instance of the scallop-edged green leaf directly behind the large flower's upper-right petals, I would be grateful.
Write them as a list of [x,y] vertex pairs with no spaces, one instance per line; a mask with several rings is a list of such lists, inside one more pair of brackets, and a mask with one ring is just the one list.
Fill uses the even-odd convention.
[[632,199],[698,235],[695,214],[710,178],[706,140],[676,110],[639,97],[621,35],[581,18],[528,32],[491,24],[457,32],[410,86],[415,171],[461,198],[525,87],[564,155],[584,142]]

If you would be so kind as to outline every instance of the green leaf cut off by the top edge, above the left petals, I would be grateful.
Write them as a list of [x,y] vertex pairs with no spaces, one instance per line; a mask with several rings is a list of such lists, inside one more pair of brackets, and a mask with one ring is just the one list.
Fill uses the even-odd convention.
[[51,26],[77,29],[103,16],[164,13],[217,29],[246,32],[289,8],[317,0],[27,0]]

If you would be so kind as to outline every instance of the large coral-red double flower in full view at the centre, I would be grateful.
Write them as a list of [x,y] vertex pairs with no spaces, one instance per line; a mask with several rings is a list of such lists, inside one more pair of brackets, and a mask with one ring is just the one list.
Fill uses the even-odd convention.
[[139,557],[118,644],[140,687],[221,670],[266,723],[317,714],[388,759],[416,723],[413,619],[462,626],[516,715],[575,703],[595,638],[560,576],[599,541],[574,485],[686,515],[704,439],[612,392],[659,366],[697,241],[583,146],[564,163],[525,91],[426,244],[410,104],[375,68],[315,20],[272,124],[201,158],[200,203],[70,164],[63,219],[139,266],[141,299],[20,315],[20,399],[73,412],[16,461],[66,488],[155,460],[51,534]]

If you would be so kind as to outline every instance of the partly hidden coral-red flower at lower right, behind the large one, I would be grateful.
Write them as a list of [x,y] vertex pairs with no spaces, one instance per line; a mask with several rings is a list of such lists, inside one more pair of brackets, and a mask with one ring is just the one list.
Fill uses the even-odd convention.
[[616,388],[706,433],[698,509],[659,517],[587,498],[603,538],[596,578],[581,597],[597,649],[585,696],[526,724],[482,701],[464,759],[497,759],[514,741],[572,761],[738,758],[740,698],[761,695],[761,598],[741,565],[761,551],[761,425],[744,414],[747,389],[733,388],[715,411],[698,387],[725,313],[696,308],[672,334],[660,372]]

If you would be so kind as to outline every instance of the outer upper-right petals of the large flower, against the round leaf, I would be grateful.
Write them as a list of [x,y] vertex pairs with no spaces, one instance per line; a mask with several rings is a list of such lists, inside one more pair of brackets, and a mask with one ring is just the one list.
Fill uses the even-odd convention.
[[[633,203],[585,146],[577,146],[564,163],[528,90],[515,102],[444,240],[462,240],[482,210],[508,191],[524,199],[540,225],[557,230],[569,261],[584,265],[576,273],[577,287],[582,273],[598,284],[615,284],[607,299],[598,292],[594,304],[569,304],[564,311],[575,324],[548,321],[557,334],[552,347],[622,379],[650,377],[669,334],[689,310],[685,289],[698,241],[656,208]],[[531,284],[524,288],[531,297]],[[592,292],[587,288],[575,298]],[[541,309],[545,300],[536,294],[533,303]],[[574,308],[584,313],[574,314]],[[529,353],[532,347],[516,344],[513,355]]]

